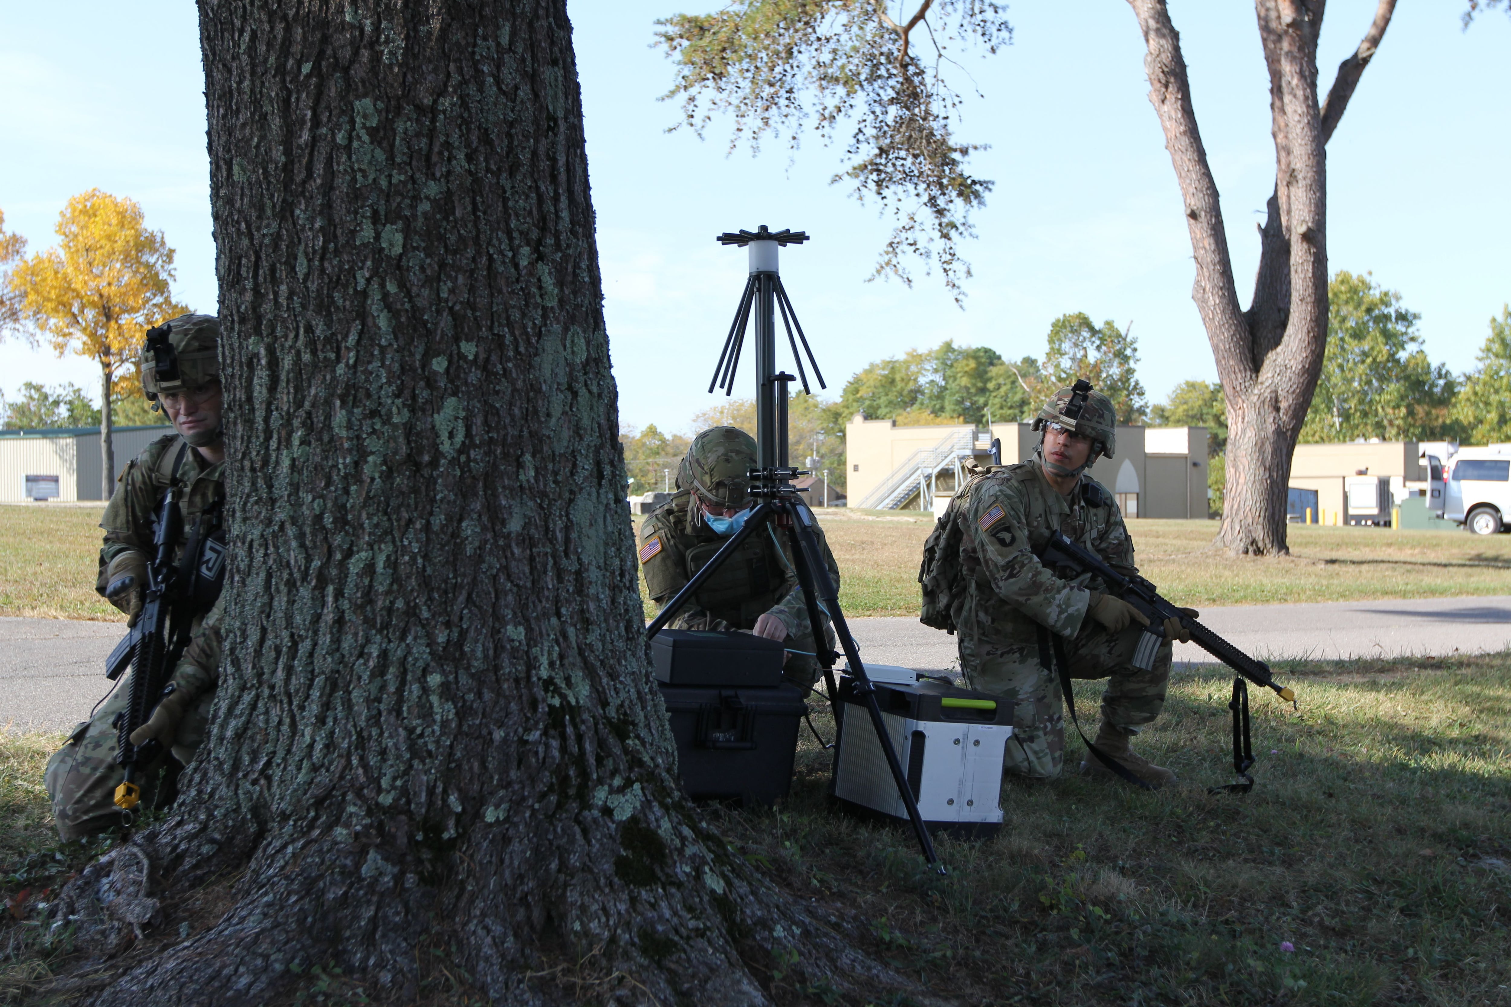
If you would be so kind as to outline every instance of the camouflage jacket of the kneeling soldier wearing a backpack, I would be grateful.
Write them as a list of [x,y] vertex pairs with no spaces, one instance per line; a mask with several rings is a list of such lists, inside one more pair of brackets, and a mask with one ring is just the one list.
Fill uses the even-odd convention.
[[1118,571],[1135,571],[1117,501],[1089,476],[1064,497],[1037,460],[1005,465],[976,479],[959,512],[961,575],[966,605],[958,625],[979,637],[1031,645],[1037,625],[1074,636],[1086,616],[1098,578],[1064,581],[1046,569],[1037,553],[1055,531],[1100,556]]

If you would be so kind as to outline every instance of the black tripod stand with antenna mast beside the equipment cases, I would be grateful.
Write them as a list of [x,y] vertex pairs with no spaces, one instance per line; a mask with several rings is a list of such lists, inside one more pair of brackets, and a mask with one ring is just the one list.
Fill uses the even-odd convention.
[[[861,699],[870,716],[876,740],[881,743],[881,750],[887,758],[887,768],[891,771],[891,779],[898,785],[898,794],[908,811],[908,821],[913,824],[913,832],[917,836],[923,858],[929,864],[937,865],[943,874],[944,867],[938,862],[938,855],[934,851],[934,842],[923,826],[923,817],[919,814],[913,788],[908,787],[902,762],[898,759],[898,750],[882,720],[881,707],[876,704],[875,685],[872,685],[870,678],[866,675],[866,666],[860,660],[860,648],[855,646],[855,637],[851,636],[849,625],[845,622],[845,613],[840,610],[839,589],[830,577],[828,568],[823,565],[814,534],[816,521],[813,512],[792,485],[793,479],[807,473],[787,465],[787,383],[801,380],[802,390],[808,391],[808,377],[802,368],[802,358],[798,353],[798,340],[802,341],[802,349],[807,352],[808,364],[813,365],[813,376],[817,379],[819,388],[825,386],[823,376],[819,373],[819,364],[813,359],[813,349],[808,346],[808,340],[802,334],[802,326],[798,323],[798,313],[793,309],[792,300],[781,285],[781,275],[777,272],[778,249],[787,245],[801,245],[808,240],[808,236],[802,231],[786,229],[772,233],[763,223],[754,233],[725,233],[718,240],[719,245],[749,246],[749,278],[745,281],[745,291],[740,294],[734,322],[724,338],[724,350],[719,353],[719,362],[713,368],[709,391],[712,393],[715,385],[718,385],[727,396],[734,393],[734,374],[739,370],[740,350],[745,346],[745,334],[749,329],[751,316],[754,316],[757,468],[749,470],[748,477],[756,483],[749,495],[760,500],[760,504],[745,519],[739,531],[730,536],[730,540],[713,554],[713,559],[651,619],[647,627],[647,636],[660,633],[688,599],[698,592],[709,577],[752,533],[763,528],[768,522],[781,528],[792,550],[793,569],[798,575],[798,587],[802,590],[805,601],[808,625],[813,627],[813,649],[817,652],[819,664],[823,667],[823,684],[830,693],[830,705],[836,707],[839,702],[839,690],[834,684],[834,658],[839,655],[825,645],[822,619],[825,611],[834,625],[834,636],[845,651],[849,675],[855,679],[854,693]],[[787,344],[792,347],[798,377],[777,371],[778,311],[787,332]],[[796,329],[796,334],[793,329]],[[692,506],[698,506],[697,501]],[[837,716],[836,723],[839,723]]]

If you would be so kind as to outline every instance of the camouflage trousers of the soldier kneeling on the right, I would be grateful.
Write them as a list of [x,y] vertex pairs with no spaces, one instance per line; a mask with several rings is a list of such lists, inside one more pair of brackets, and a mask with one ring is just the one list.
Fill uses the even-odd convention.
[[[1017,628],[1017,627],[1014,627]],[[970,688],[1012,702],[1012,737],[1003,768],[1008,773],[1049,779],[1059,776],[1065,758],[1065,714],[1059,676],[1040,661],[1038,634],[1024,621],[1029,640],[1003,642],[959,634],[959,666]],[[1171,645],[1166,640],[1154,667],[1133,667],[1133,649],[1144,627],[1109,633],[1086,617],[1074,637],[1061,637],[1071,678],[1106,678],[1102,719],[1118,728],[1151,723],[1165,707],[1170,685]],[[1085,711],[1082,711],[1085,716]],[[1091,728],[1082,725],[1088,732]]]

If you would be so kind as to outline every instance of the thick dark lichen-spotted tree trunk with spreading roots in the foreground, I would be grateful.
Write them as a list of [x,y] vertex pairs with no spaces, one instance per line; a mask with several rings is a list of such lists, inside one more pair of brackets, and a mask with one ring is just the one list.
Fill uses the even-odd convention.
[[[754,1004],[798,933],[816,977],[896,981],[678,794],[565,3],[199,14],[227,658],[134,844],[162,948],[94,1002],[263,1004],[335,965],[405,1001],[444,966],[509,1004]],[[227,873],[224,915],[184,907]]]

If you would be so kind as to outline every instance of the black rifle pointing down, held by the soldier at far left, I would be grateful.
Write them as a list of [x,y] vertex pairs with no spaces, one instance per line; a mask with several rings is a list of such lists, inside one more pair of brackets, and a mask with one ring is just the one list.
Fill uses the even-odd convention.
[[[145,744],[131,744],[131,732],[151,719],[178,652],[183,651],[178,639],[184,636],[181,619],[174,619],[175,640],[168,640],[168,617],[183,593],[184,580],[174,565],[174,545],[183,530],[177,492],[177,488],[169,488],[163,494],[163,503],[153,521],[153,559],[147,568],[142,614],[106,660],[106,676],[112,681],[121,676],[127,664],[131,666],[130,699],[116,720],[115,761],[125,767],[125,779],[115,788],[115,803],[124,811],[131,811],[141,802],[142,787],[138,776],[163,753],[157,738],[148,738]],[[107,593],[113,595],[128,587],[130,584],[118,581],[109,586]]]

